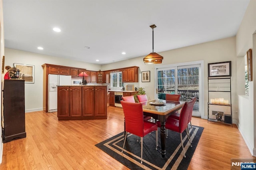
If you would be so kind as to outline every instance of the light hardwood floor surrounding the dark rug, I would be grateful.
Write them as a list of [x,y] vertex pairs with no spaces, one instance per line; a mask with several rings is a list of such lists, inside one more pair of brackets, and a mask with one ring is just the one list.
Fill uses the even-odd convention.
[[[107,120],[58,121],[57,113],[26,113],[23,139],[3,145],[1,170],[128,169],[95,144],[124,130],[122,109],[110,107]],[[204,131],[189,170],[230,169],[231,158],[253,158],[233,125],[192,118]]]

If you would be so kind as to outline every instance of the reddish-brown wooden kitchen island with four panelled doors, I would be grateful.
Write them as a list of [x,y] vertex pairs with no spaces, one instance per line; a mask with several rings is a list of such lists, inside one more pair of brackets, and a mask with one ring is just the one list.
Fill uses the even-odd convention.
[[108,86],[58,86],[58,120],[107,119]]

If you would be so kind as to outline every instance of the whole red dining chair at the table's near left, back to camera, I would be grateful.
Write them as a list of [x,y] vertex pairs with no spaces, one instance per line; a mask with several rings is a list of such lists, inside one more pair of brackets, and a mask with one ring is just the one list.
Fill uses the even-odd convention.
[[[130,103],[126,101],[121,101],[124,118],[125,118],[125,138],[124,145],[127,138],[127,132],[132,133],[136,136],[140,136],[141,141],[141,164],[142,164],[142,149],[143,149],[143,137],[146,134],[156,130],[156,150],[158,146],[158,127],[156,123],[144,121],[143,120],[143,110],[141,103]],[[124,150],[124,145],[122,148],[122,153]]]

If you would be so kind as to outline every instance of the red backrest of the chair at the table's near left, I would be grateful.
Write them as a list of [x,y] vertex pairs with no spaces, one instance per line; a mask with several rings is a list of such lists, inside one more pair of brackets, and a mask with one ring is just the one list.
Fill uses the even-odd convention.
[[121,101],[124,110],[125,130],[140,137],[144,137],[144,120],[141,103]]

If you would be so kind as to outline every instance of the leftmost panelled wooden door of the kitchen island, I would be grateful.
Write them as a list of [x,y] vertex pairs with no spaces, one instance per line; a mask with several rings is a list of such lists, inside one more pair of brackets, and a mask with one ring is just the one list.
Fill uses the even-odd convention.
[[58,117],[68,117],[69,116],[69,88],[68,87],[58,87],[58,107],[57,107]]

